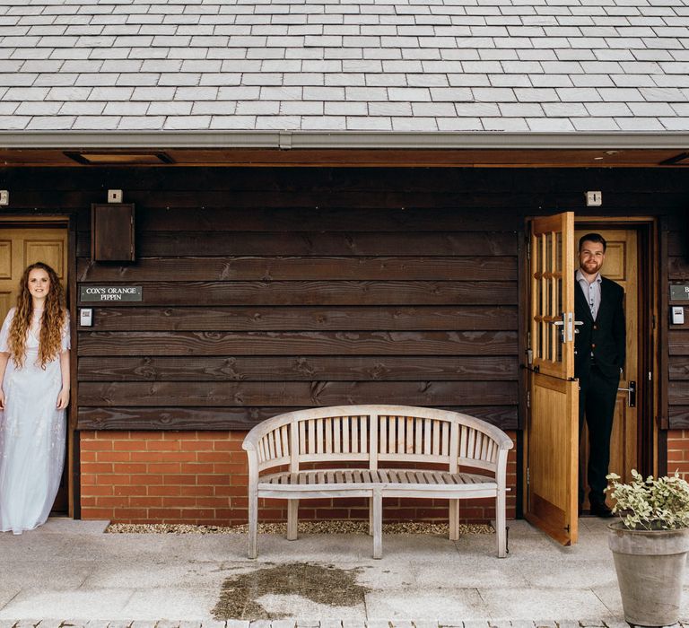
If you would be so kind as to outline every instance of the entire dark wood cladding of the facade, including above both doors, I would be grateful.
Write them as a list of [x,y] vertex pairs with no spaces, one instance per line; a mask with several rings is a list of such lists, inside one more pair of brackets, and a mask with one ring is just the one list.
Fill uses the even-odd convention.
[[[76,216],[79,285],[143,287],[141,303],[82,304],[94,309],[75,345],[82,429],[247,429],[298,402],[349,399],[514,429],[527,216],[664,216],[669,278],[689,277],[680,169],[0,171],[10,213]],[[89,261],[89,208],[109,188],[136,205],[131,265]],[[602,209],[584,206],[587,189],[606,190]],[[689,322],[662,339],[673,427],[689,427],[688,334]],[[81,406],[84,386],[96,405]],[[197,406],[181,399],[188,387]]]

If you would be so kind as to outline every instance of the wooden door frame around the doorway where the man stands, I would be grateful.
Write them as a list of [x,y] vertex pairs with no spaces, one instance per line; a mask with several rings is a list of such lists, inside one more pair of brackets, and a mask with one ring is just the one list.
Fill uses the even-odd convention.
[[[543,214],[540,214],[543,215]],[[547,215],[547,214],[545,214]],[[537,216],[528,216],[525,220],[524,230],[519,238],[519,267],[521,273],[521,289],[519,290],[519,356],[522,368],[519,369],[519,430],[523,433],[522,449],[528,442],[527,414],[528,408],[528,377],[527,377],[527,334],[529,330],[529,291],[530,277],[528,275],[528,239],[530,234],[530,222]],[[638,453],[637,468],[641,475],[658,475],[667,473],[667,451],[664,451],[665,432],[667,425],[664,423],[665,413],[663,404],[667,399],[663,389],[663,381],[667,358],[660,351],[660,340],[667,338],[667,320],[661,315],[660,306],[663,299],[663,286],[667,284],[666,266],[663,264],[663,256],[666,247],[661,240],[661,223],[654,216],[606,216],[587,215],[576,213],[574,215],[574,227],[580,229],[582,225],[589,225],[592,230],[600,229],[635,229],[638,234],[639,248],[639,309],[641,318],[639,325],[639,354],[640,373],[651,374],[650,386],[645,388],[647,394],[643,398],[643,406],[640,407],[637,429]],[[574,243],[576,248],[576,242]],[[667,290],[665,291],[667,292]],[[666,295],[667,299],[667,295]],[[666,309],[667,310],[667,309]],[[647,379],[648,381],[648,379]],[[646,382],[644,382],[646,383]],[[641,388],[641,386],[640,386]],[[518,517],[523,517],[527,510],[527,467],[528,459],[526,450],[520,456],[521,482],[518,487]],[[519,511],[519,507],[520,510]]]

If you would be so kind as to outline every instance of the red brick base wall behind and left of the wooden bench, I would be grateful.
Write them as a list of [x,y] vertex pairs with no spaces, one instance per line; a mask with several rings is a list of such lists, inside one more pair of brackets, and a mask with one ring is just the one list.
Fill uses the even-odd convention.
[[[235,525],[247,521],[246,432],[81,432],[83,519],[119,523]],[[514,434],[510,434],[514,438]],[[689,464],[689,462],[687,463]],[[510,451],[508,517],[514,518],[517,464]],[[285,520],[285,502],[260,504],[262,520]],[[465,521],[493,519],[493,500],[462,502]],[[384,502],[386,520],[447,520],[442,500]],[[301,519],[368,519],[367,503],[302,502]]]

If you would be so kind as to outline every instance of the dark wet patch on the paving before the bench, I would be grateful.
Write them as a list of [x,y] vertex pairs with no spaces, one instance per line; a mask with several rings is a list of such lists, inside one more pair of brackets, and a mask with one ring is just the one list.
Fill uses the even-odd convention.
[[258,603],[266,595],[300,596],[327,606],[358,606],[369,589],[356,583],[358,568],[290,563],[227,578],[213,609],[215,619],[281,619]]

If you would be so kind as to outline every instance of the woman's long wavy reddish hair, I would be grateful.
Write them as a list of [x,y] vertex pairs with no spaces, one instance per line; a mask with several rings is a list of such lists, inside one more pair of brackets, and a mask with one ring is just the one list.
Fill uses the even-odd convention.
[[40,268],[48,273],[50,289],[46,297],[45,310],[40,320],[39,359],[41,369],[51,362],[60,353],[62,340],[62,327],[65,324],[65,292],[57,278],[57,273],[48,264],[36,262],[27,266],[20,281],[19,296],[17,297],[17,310],[14,312],[12,325],[10,326],[9,348],[13,362],[18,368],[24,365],[24,353],[26,349],[26,336],[31,329],[33,318],[33,300],[29,292],[29,274],[35,268]]

